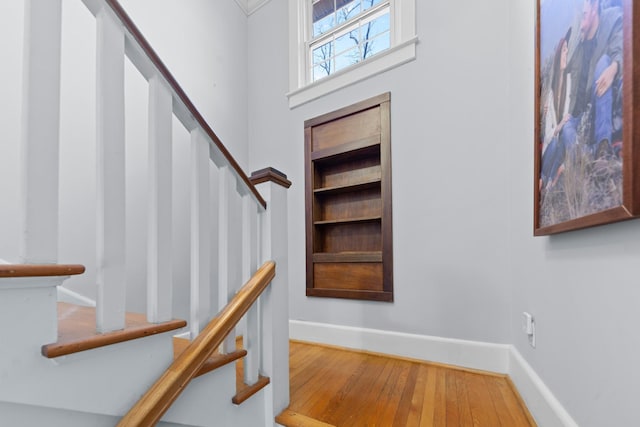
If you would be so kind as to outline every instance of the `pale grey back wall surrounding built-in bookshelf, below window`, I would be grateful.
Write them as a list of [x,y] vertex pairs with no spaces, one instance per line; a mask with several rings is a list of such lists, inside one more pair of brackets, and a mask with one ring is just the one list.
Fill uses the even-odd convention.
[[[507,3],[418,1],[416,61],[293,110],[287,2],[250,16],[250,165],[274,166],[293,181],[292,319],[509,342]],[[386,91],[395,302],[308,298],[304,120]]]

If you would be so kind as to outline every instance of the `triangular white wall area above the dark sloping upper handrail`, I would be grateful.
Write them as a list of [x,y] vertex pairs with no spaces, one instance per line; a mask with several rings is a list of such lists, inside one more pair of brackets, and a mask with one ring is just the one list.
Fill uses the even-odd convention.
[[247,17],[234,0],[122,0],[243,170],[247,146]]

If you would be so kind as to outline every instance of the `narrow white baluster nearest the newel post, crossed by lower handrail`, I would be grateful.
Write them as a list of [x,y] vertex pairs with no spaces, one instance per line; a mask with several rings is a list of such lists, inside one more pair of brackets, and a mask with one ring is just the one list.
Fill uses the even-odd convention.
[[[258,205],[251,196],[242,196],[242,283],[247,283],[258,269]],[[246,314],[244,331],[244,382],[255,384],[260,368],[259,304],[253,304]]]

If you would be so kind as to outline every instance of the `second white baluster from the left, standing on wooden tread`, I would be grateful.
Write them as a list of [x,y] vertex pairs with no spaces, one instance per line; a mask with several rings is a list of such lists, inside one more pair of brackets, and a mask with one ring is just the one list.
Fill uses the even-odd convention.
[[124,29],[110,10],[97,20],[97,282],[99,332],[125,326]]

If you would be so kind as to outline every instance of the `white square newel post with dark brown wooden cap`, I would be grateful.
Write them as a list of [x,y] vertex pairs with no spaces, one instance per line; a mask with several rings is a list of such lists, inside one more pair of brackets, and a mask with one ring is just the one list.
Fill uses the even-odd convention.
[[[272,396],[267,400],[266,417],[273,417],[289,405],[289,267],[286,175],[275,169],[263,169],[251,175],[251,181],[267,202],[261,214],[262,262],[276,263],[276,276],[260,301],[262,321],[261,373],[271,378]],[[268,391],[269,392],[269,391]]]

